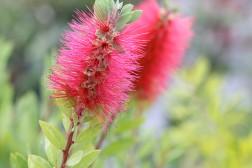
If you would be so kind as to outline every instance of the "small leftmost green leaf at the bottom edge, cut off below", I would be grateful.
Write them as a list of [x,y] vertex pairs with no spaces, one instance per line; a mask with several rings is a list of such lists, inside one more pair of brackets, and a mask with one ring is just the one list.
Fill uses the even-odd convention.
[[13,168],[27,168],[25,157],[19,153],[11,153],[10,161]]

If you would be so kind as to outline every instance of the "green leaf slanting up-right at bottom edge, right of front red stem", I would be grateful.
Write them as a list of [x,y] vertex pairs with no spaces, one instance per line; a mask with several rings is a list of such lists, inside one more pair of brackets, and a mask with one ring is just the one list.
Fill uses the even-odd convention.
[[88,168],[98,157],[100,150],[93,150],[83,156],[81,161],[73,168]]

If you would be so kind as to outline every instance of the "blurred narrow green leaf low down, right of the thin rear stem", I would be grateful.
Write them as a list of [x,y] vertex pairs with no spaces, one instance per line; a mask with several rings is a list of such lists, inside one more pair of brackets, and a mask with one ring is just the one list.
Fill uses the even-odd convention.
[[135,143],[134,138],[127,138],[112,142],[111,144],[109,144],[104,148],[104,150],[102,151],[102,155],[107,157],[116,155],[117,153],[129,149],[129,147],[132,146],[132,144],[134,143]]

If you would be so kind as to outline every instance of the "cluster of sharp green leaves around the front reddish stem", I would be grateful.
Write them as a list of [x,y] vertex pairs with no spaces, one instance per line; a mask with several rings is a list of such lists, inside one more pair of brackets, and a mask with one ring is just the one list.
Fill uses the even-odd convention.
[[[61,113],[64,115],[64,113]],[[65,116],[66,117],[66,116]],[[69,119],[68,117],[63,118],[63,120]],[[95,123],[95,126],[89,126],[85,128],[76,138],[76,136],[73,137],[73,141],[75,142],[75,147],[71,149],[70,157],[67,161],[67,165],[70,167],[89,167],[98,157],[98,154],[100,153],[100,150],[87,150],[87,145],[92,145],[93,138],[95,138],[101,130],[101,126],[98,125],[97,120],[91,119],[88,120],[87,123]],[[45,152],[47,155],[47,158],[49,162],[55,167],[59,167],[61,165],[62,161],[62,150],[66,147],[66,138],[63,136],[61,131],[54,127],[51,124],[48,124],[44,121],[40,121],[40,126],[43,131],[43,133],[46,136],[45,139]],[[77,134],[76,134],[77,135]],[[86,142],[83,144],[79,144],[80,142]],[[85,148],[84,148],[85,147]],[[85,149],[84,151],[76,151],[81,148]],[[28,167],[51,167],[51,165],[44,159],[35,156],[30,155],[28,157]]]

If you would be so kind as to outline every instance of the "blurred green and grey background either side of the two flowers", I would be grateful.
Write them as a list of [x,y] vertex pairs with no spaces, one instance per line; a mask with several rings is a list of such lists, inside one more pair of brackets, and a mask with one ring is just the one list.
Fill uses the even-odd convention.
[[[43,155],[37,121],[59,121],[43,78],[74,11],[91,4],[0,0],[0,167],[10,166],[11,152]],[[191,47],[167,92],[145,107],[144,121],[132,119],[132,128],[116,124],[121,133],[137,129],[139,138],[114,144],[121,150],[107,150],[97,167],[250,168],[252,2],[171,0],[170,5],[195,17]],[[134,108],[131,116],[130,111]],[[113,130],[109,136],[115,140]],[[125,150],[131,159],[123,159]]]

